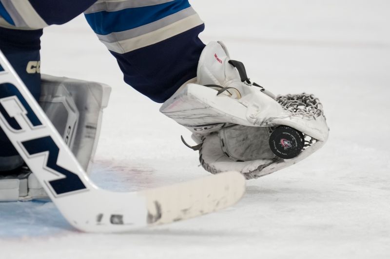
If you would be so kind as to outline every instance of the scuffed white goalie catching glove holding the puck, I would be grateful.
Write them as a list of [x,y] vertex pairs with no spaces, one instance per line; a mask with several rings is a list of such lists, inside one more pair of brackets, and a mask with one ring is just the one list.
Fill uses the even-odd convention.
[[160,108],[188,128],[198,143],[201,165],[210,173],[264,176],[314,153],[329,128],[317,98],[309,94],[275,97],[247,77],[221,42],[203,50],[197,78]]

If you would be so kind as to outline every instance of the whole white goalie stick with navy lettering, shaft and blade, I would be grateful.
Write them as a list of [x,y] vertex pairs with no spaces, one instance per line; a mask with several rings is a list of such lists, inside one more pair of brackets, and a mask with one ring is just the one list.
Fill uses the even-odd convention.
[[245,191],[237,172],[135,192],[99,189],[0,51],[0,126],[65,219],[85,232],[126,232],[211,213]]

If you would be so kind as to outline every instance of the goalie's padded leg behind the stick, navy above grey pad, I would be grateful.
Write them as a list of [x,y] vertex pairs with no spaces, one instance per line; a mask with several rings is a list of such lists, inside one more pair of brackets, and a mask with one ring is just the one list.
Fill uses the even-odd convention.
[[[95,154],[102,109],[110,87],[95,82],[40,76],[39,37],[42,30],[0,28],[0,50],[4,52],[59,134],[88,170]],[[0,91],[0,98],[4,93]],[[0,105],[0,109],[1,109]],[[0,201],[45,196],[23,159],[0,128]]]

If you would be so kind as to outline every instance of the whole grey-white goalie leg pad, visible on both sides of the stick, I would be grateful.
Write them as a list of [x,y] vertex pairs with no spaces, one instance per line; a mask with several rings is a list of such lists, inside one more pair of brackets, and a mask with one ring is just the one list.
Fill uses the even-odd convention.
[[[102,113],[110,92],[111,87],[101,83],[42,74],[39,104],[86,172],[92,166]],[[2,171],[13,170],[24,163],[19,155],[11,158],[0,157]],[[0,201],[47,196],[35,175],[24,168],[2,174]]]

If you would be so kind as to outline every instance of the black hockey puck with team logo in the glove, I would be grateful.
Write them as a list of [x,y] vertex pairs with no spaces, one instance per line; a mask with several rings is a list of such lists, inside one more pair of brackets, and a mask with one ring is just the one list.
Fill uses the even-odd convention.
[[279,126],[270,135],[270,148],[273,154],[283,159],[299,155],[304,143],[302,132],[288,126]]

